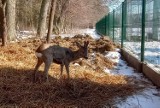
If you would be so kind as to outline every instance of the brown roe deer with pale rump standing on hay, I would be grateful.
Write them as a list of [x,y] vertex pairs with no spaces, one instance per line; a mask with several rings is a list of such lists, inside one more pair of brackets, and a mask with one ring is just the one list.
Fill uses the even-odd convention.
[[44,62],[45,68],[44,73],[46,80],[48,81],[48,70],[52,62],[60,64],[62,76],[63,67],[65,65],[67,76],[69,79],[69,64],[70,62],[77,60],[81,57],[88,59],[88,44],[89,41],[84,41],[84,45],[80,45],[77,43],[79,49],[77,51],[72,51],[69,48],[61,47],[59,45],[50,46],[50,44],[42,44],[36,50],[36,56],[38,58],[38,62],[34,69],[34,80],[36,80],[36,72],[40,65]]

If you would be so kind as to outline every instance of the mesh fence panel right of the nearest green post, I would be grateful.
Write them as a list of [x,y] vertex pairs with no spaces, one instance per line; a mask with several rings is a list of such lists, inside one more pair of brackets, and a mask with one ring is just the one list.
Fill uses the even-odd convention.
[[[146,0],[144,59],[160,70],[160,0]],[[160,71],[159,71],[160,72]]]

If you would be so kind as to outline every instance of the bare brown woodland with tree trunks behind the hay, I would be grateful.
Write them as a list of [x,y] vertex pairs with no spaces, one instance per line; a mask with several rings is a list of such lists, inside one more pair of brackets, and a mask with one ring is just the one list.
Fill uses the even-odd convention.
[[47,42],[50,35],[93,27],[108,11],[102,0],[1,0],[2,45],[16,40],[17,32],[36,31]]

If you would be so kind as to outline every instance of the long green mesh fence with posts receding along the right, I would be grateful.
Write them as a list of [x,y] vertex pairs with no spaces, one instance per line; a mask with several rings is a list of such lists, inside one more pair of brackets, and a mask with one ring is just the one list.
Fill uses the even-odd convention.
[[160,0],[125,0],[96,24],[142,62],[160,71]]

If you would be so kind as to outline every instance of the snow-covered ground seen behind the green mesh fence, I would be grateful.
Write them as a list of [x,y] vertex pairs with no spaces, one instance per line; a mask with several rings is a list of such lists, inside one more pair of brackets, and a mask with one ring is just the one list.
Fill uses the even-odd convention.
[[[124,46],[126,46],[128,51],[130,51],[137,59],[140,59],[140,42],[125,42]],[[145,42],[144,60],[148,65],[160,73],[160,41]]]

